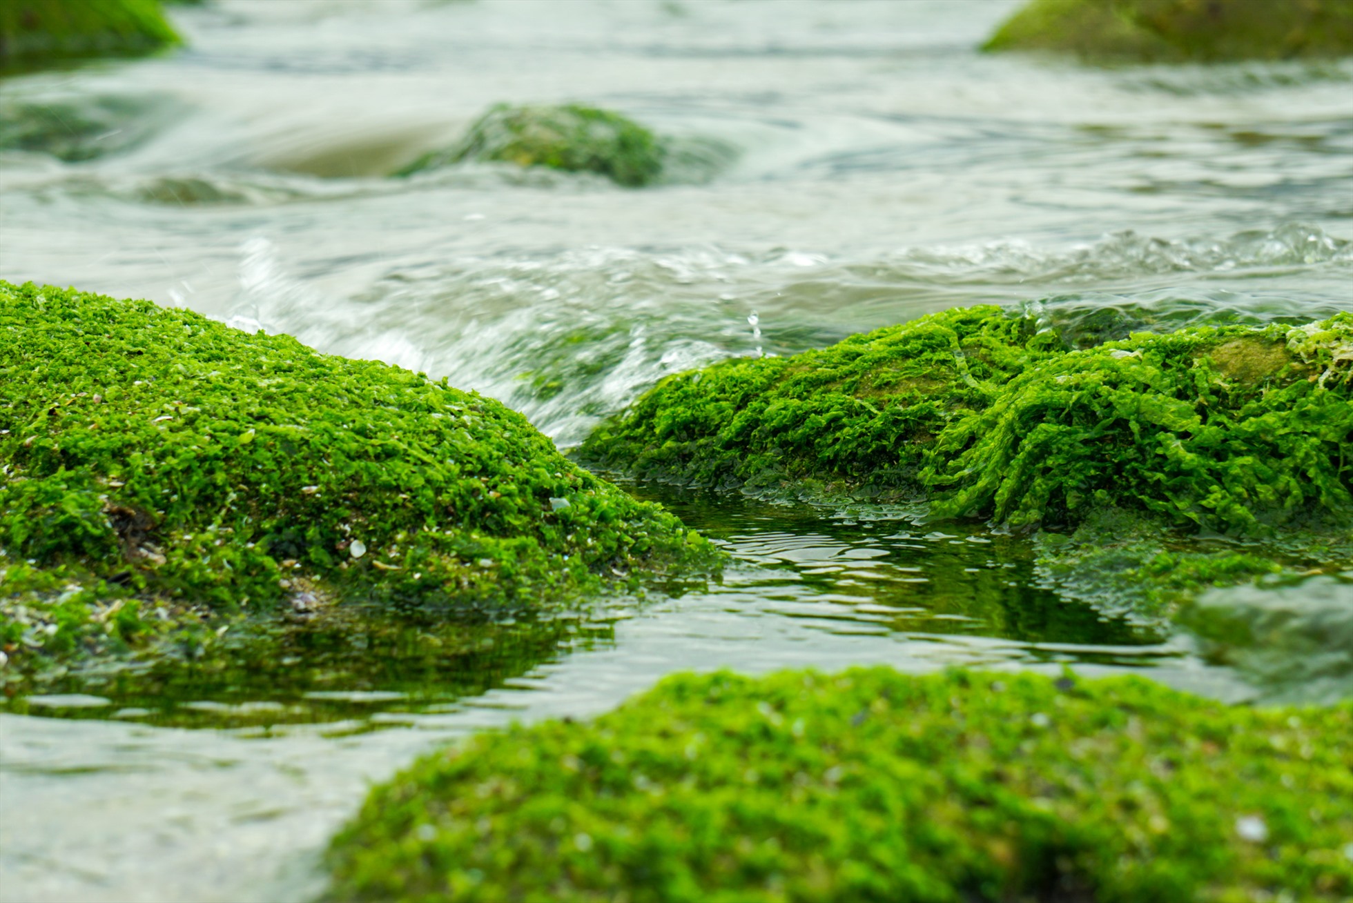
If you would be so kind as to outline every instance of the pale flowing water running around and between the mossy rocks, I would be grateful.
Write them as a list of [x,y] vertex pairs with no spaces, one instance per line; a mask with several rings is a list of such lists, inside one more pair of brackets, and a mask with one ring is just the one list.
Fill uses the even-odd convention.
[[[955,304],[1091,333],[1104,312],[1161,327],[1353,310],[1353,64],[978,54],[1009,9],[176,8],[188,50],[0,81],[0,274],[448,376],[563,447],[666,373]],[[492,103],[568,100],[671,137],[666,184],[499,165],[386,177]],[[633,491],[736,564],[453,638],[299,620],[225,658],[9,700],[0,899],[304,899],[368,781],[465,731],[605,711],[686,668],[1074,665],[1227,700],[1350,692],[1337,579],[1223,602],[1344,649],[1222,664],[1058,595],[1027,543],[980,526]]]

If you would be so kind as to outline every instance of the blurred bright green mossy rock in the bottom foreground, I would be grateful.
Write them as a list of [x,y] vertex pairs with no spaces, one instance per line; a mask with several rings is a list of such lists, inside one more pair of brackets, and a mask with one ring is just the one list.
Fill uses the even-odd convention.
[[1345,900],[1353,706],[1146,680],[678,675],[377,787],[330,900]]

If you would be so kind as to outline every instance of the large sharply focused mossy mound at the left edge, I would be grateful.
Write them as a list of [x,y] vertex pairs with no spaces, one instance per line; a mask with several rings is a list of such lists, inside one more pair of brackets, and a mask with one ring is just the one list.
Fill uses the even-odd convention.
[[283,600],[502,612],[717,561],[497,401],[32,284],[0,283],[0,474],[9,654]]

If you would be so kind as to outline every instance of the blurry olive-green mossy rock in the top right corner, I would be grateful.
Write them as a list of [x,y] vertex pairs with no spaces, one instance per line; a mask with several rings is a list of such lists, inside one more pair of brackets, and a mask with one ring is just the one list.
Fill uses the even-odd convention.
[[1353,0],[1030,0],[984,49],[1100,62],[1334,57],[1353,53]]

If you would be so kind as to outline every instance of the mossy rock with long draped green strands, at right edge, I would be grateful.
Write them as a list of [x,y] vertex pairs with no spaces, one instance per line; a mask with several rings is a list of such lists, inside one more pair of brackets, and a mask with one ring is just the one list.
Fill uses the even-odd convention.
[[640,479],[1074,524],[1262,534],[1353,516],[1353,314],[1068,350],[994,307],[659,383],[578,457]]

